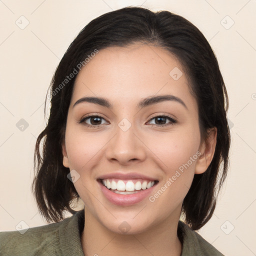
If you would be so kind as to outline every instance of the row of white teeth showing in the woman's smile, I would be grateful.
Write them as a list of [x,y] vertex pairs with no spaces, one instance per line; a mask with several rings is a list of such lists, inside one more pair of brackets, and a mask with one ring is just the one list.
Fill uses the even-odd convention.
[[144,180],[143,182],[138,180],[136,181],[135,184],[132,180],[127,180],[125,184],[124,181],[120,179],[117,182],[111,179],[103,179],[102,183],[108,189],[115,190],[114,192],[117,191],[117,193],[120,193],[118,191],[125,191],[125,193],[122,192],[121,194],[128,194],[126,193],[127,191],[137,192],[135,190],[141,190],[141,189],[145,190],[146,188],[150,188],[151,186],[154,185],[154,181],[147,182],[146,180]]

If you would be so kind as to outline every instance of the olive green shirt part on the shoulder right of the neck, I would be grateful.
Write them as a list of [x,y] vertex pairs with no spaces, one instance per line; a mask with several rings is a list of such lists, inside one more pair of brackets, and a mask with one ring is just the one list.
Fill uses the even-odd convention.
[[183,236],[181,256],[224,256],[199,233],[192,230],[184,222],[179,221],[178,226],[181,229]]

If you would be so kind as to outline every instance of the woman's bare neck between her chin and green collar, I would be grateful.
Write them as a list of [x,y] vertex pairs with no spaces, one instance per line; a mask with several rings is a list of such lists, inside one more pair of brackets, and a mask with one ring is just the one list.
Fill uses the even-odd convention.
[[182,244],[177,237],[179,215],[169,216],[146,231],[136,234],[112,232],[84,209],[84,229],[81,235],[82,249],[88,255],[141,255],[180,256]]

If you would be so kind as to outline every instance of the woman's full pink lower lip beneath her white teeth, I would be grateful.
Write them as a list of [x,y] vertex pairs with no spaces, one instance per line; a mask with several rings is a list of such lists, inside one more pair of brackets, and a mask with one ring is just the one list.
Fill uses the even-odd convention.
[[142,201],[145,197],[148,197],[154,189],[155,185],[141,190],[133,194],[117,194],[106,188],[100,181],[98,181],[100,189],[105,197],[114,204],[129,206]]

